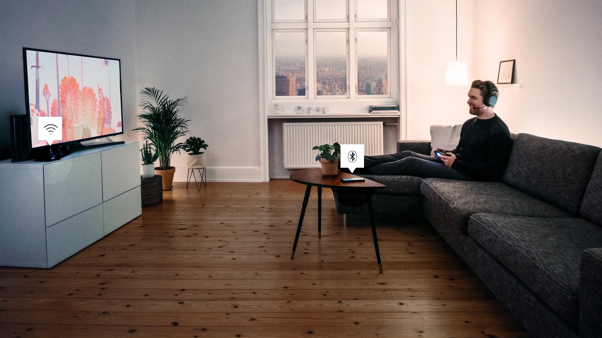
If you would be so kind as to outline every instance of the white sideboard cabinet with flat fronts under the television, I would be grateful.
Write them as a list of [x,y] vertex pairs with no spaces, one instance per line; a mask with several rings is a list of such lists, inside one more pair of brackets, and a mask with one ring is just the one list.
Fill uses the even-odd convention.
[[138,149],[0,161],[0,265],[50,268],[141,215]]

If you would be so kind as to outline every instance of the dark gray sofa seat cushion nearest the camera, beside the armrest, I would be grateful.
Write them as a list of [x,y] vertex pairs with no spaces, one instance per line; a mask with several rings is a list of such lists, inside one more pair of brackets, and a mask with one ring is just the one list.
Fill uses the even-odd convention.
[[476,214],[468,234],[556,313],[579,323],[583,250],[602,246],[602,228],[583,218]]

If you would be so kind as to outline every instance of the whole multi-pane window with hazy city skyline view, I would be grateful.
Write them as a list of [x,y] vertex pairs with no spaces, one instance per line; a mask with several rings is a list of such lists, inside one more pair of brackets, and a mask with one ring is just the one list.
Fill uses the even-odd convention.
[[395,0],[265,1],[273,99],[392,97]]

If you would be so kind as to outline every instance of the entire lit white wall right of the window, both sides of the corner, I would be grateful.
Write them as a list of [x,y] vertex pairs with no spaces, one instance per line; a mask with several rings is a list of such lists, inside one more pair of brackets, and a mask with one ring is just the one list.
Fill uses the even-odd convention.
[[[455,1],[407,0],[408,139],[430,124],[462,123],[468,87],[445,86],[455,57]],[[602,1],[459,0],[458,59],[468,79],[497,82],[516,59],[516,85],[499,85],[495,112],[510,131],[602,146]]]

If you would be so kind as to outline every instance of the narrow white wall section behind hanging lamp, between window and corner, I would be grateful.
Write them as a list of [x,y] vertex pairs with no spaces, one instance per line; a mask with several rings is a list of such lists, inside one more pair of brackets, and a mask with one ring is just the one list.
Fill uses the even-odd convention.
[[[458,60],[474,79],[474,0],[458,0]],[[455,0],[406,0],[408,140],[429,140],[431,124],[459,124],[468,114],[468,86],[447,86],[456,59]],[[403,103],[402,103],[403,104]]]

